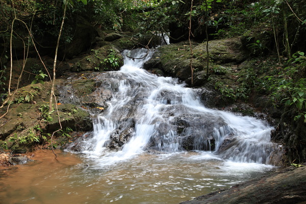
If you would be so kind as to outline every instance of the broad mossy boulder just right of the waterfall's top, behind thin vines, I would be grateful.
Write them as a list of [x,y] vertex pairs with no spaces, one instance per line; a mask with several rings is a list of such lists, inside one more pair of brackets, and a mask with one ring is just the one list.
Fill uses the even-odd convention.
[[[192,43],[195,84],[206,82],[206,43]],[[238,38],[209,41],[210,60],[215,64],[241,63],[247,58],[243,45]],[[144,68],[153,71],[160,69],[164,74],[181,80],[191,78],[189,41],[164,45],[157,49],[154,56],[145,63]]]

